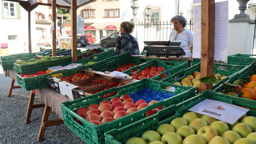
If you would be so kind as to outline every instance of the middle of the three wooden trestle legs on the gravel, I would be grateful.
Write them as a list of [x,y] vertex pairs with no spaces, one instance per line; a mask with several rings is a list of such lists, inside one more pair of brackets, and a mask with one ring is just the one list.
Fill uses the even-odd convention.
[[28,101],[28,107],[27,107],[27,113],[26,113],[26,118],[25,118],[25,124],[30,123],[30,117],[32,113],[33,108],[42,108],[45,107],[44,103],[39,103],[39,104],[34,104],[34,99],[35,99],[35,92],[31,91],[30,92],[30,97]]

